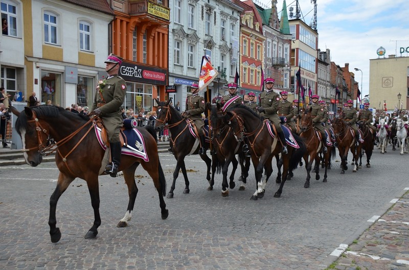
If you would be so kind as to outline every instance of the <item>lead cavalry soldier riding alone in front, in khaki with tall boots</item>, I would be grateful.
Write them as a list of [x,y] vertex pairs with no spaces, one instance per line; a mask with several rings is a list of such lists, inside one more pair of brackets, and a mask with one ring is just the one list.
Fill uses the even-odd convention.
[[121,142],[119,139],[122,127],[121,106],[125,100],[126,83],[118,76],[122,58],[114,54],[108,55],[105,61],[108,77],[98,82],[94,98],[93,111],[101,117],[108,134],[109,148],[112,162],[106,165],[105,174],[117,177],[121,163]]

